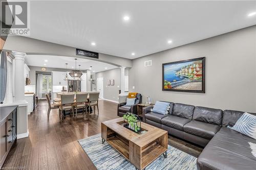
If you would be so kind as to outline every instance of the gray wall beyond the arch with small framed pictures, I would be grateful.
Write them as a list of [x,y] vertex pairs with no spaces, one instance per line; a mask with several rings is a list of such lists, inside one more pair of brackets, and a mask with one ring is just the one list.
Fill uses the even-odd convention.
[[[96,90],[97,90],[97,78],[103,78],[103,98],[118,102],[118,95],[120,90],[120,68],[111,69],[107,71],[97,72],[96,78]],[[114,79],[115,85],[108,86],[106,80]]]

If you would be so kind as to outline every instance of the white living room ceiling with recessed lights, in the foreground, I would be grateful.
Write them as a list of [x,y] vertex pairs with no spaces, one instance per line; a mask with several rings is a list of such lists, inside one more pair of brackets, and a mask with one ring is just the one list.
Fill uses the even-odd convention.
[[256,1],[31,1],[30,37],[133,59],[256,25],[254,11]]

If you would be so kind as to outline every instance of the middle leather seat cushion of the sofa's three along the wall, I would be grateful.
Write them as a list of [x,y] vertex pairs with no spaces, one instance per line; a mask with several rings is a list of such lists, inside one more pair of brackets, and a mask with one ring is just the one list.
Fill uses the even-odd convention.
[[174,115],[168,115],[161,119],[162,125],[168,126],[170,128],[178,129],[183,131],[183,126],[190,122],[188,118],[178,117]]

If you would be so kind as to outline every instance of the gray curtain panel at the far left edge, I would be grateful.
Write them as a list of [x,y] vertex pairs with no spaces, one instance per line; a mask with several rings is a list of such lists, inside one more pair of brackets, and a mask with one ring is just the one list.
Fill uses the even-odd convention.
[[0,103],[3,104],[6,93],[7,83],[7,55],[6,52],[1,53],[0,63]]

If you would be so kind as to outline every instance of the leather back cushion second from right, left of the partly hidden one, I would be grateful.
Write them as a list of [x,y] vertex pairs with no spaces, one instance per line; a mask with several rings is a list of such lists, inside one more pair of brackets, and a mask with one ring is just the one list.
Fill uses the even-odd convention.
[[209,124],[221,125],[223,111],[220,109],[212,109],[207,107],[195,107],[193,120],[205,122]]

